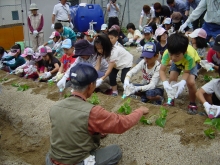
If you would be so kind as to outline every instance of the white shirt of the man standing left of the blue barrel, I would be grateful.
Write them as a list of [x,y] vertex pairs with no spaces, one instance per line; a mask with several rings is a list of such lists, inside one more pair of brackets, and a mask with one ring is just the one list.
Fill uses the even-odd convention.
[[69,5],[62,5],[61,3],[56,4],[53,8],[53,14],[56,16],[57,20],[68,21],[70,14]]

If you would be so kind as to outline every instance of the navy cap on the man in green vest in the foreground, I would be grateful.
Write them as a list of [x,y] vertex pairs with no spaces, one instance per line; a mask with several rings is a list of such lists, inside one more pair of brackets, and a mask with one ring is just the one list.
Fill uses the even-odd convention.
[[90,64],[78,63],[70,69],[70,81],[73,85],[86,86],[97,78],[98,73]]

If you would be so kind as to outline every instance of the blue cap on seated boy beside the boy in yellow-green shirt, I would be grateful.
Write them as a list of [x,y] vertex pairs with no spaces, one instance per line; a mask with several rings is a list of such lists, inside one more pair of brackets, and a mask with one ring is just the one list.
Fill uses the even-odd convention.
[[152,58],[155,54],[158,53],[157,47],[153,42],[148,42],[143,46],[142,58]]

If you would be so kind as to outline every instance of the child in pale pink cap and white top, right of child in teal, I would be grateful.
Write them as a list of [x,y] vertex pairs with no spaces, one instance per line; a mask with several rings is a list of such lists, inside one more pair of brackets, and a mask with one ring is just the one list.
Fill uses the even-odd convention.
[[31,48],[25,48],[21,57],[26,59],[26,63],[17,67],[15,73],[21,73],[20,77],[32,78],[33,80],[38,78],[37,67],[33,60],[34,51]]

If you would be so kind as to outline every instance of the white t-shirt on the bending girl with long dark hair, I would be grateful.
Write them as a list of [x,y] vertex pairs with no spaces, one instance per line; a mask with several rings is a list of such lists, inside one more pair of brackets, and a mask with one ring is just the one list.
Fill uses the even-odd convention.
[[114,46],[109,57],[109,62],[115,62],[115,69],[130,68],[133,64],[133,55],[120,46]]

